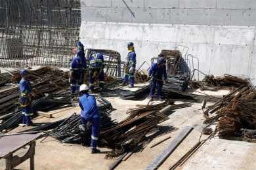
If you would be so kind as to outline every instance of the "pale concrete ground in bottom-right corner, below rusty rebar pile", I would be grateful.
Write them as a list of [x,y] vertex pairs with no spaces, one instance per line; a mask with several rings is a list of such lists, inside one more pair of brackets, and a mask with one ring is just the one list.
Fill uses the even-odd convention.
[[213,138],[182,169],[255,169],[255,143]]

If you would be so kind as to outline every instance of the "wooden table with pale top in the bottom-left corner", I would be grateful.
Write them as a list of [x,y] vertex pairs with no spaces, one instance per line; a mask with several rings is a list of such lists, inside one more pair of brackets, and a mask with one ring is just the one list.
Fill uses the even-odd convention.
[[[5,165],[7,170],[12,170],[20,163],[28,160],[30,158],[30,170],[35,169],[34,158],[35,158],[35,139],[39,137],[38,134],[22,134],[22,135],[12,135],[0,138],[0,159],[5,158]],[[28,152],[22,156],[14,156],[14,152],[24,148],[25,146],[30,146]]]

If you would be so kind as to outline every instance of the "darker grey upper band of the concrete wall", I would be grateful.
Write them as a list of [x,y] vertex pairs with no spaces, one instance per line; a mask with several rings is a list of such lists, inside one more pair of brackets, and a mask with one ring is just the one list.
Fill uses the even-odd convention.
[[91,22],[146,24],[256,25],[255,0],[81,0]]

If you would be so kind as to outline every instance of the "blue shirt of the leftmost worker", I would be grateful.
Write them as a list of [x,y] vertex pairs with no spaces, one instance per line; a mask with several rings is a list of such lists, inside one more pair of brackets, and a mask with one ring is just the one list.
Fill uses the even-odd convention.
[[30,95],[32,94],[32,86],[30,81],[22,78],[20,80],[20,105],[21,107],[26,107],[30,105]]

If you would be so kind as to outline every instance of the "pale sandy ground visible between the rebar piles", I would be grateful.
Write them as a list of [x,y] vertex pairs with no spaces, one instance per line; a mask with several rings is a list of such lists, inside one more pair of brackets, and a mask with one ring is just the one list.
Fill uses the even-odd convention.
[[[143,84],[137,85],[143,86]],[[128,88],[127,88],[128,90]],[[135,89],[134,89],[135,90]],[[116,97],[106,97],[108,101],[112,103],[114,110],[112,112],[112,118],[117,121],[123,120],[127,114],[128,109],[135,108],[137,104],[148,103],[148,99],[142,101],[127,101],[122,100],[119,97],[119,91],[111,92],[112,95],[116,93]],[[203,93],[224,95],[228,93],[227,90],[219,90],[218,92],[203,91]],[[175,102],[181,103],[181,102]],[[211,105],[212,103],[207,103]],[[184,109],[178,109],[169,115],[169,120],[160,124],[160,126],[173,126],[179,129],[167,133],[161,137],[157,137],[151,141],[142,152],[134,153],[128,160],[122,161],[116,169],[145,169],[146,166],[158,156],[164,150],[169,143],[181,131],[184,126],[194,126],[193,131],[184,139],[179,147],[164,161],[159,169],[169,169],[176,161],[179,160],[194,144],[200,139],[203,127],[203,113],[202,103],[193,103],[192,107]],[[74,112],[79,113],[79,107],[70,107],[60,109],[53,115],[53,118],[45,118],[37,116],[33,119],[34,123],[42,122],[54,122],[62,118],[66,118]],[[210,126],[215,129],[216,125]],[[10,131],[15,133],[17,131],[24,130],[28,127],[17,127]],[[171,139],[158,144],[154,148],[150,148],[152,144],[171,136]],[[202,135],[202,139],[207,138],[207,135]],[[35,169],[108,169],[114,159],[106,159],[105,153],[108,148],[100,148],[102,151],[100,154],[91,154],[89,147],[81,146],[79,144],[63,144],[59,143],[55,139],[48,137],[40,142],[37,140],[35,148]],[[18,155],[22,155],[26,152],[26,148],[19,152]],[[219,139],[219,137],[213,137],[206,141],[199,150],[189,158],[180,169],[255,169],[256,167],[256,144],[247,143],[243,141],[228,141]],[[29,161],[18,165],[16,169],[29,169]],[[1,169],[5,169],[5,160],[0,160]]]

